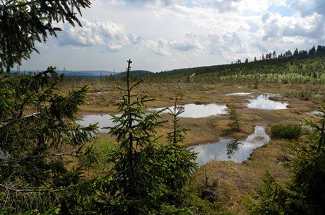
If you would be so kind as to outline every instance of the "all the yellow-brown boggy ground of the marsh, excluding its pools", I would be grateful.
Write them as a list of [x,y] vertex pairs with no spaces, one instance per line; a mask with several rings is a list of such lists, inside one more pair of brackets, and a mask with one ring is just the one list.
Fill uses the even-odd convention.
[[[122,82],[121,82],[122,83]],[[88,84],[90,95],[88,104],[81,110],[90,113],[114,113],[117,107],[114,103],[121,99],[122,91],[116,90],[114,84],[93,80],[83,83],[69,83],[71,88]],[[232,132],[228,126],[230,120],[228,115],[205,118],[181,118],[180,124],[189,129],[184,141],[184,146],[204,144],[226,138],[244,139],[254,132],[256,125],[266,127],[270,134],[271,125],[281,123],[302,123],[303,117],[311,117],[307,112],[319,108],[320,101],[324,95],[309,95],[302,100],[300,91],[307,88],[317,88],[317,92],[323,91],[324,86],[251,86],[225,85],[225,84],[199,84],[199,83],[142,83],[134,93],[148,95],[156,98],[154,102],[148,103],[150,108],[162,108],[172,106],[175,97],[179,104],[207,104],[232,105],[241,113],[240,121],[243,127],[240,132]],[[67,88],[66,88],[67,89]],[[238,96],[227,95],[227,93],[245,92],[251,95]],[[295,93],[297,92],[297,93]],[[261,93],[277,93],[278,97],[271,98],[288,102],[286,110],[257,110],[246,107],[249,98],[254,98]],[[314,98],[317,98],[315,100]],[[308,100],[307,100],[308,99]],[[81,113],[83,114],[83,113]],[[170,120],[169,115],[164,115],[165,120]],[[316,118],[314,118],[316,119]],[[159,129],[159,134],[165,134],[172,129],[172,123],[168,121],[164,127]],[[268,170],[280,183],[290,178],[288,171],[283,167],[285,141],[271,140],[268,144],[255,149],[247,161],[234,163],[232,161],[214,161],[202,166],[196,173],[196,186],[201,186],[208,175],[211,189],[217,194],[217,199],[224,202],[224,208],[233,214],[247,214],[244,207],[244,198],[252,189],[259,185],[261,178]]]

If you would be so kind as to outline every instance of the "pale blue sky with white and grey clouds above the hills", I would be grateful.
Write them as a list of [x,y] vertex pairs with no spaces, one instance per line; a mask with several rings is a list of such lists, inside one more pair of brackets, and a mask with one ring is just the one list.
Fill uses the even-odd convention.
[[153,72],[325,45],[325,0],[95,0],[21,70]]

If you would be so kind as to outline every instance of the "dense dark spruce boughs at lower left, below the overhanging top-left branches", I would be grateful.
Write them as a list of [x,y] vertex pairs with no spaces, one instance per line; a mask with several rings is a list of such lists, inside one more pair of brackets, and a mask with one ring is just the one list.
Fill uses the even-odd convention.
[[0,81],[0,205],[11,213],[62,204],[95,161],[86,143],[96,127],[74,123],[88,88],[57,94],[58,80],[49,67]]

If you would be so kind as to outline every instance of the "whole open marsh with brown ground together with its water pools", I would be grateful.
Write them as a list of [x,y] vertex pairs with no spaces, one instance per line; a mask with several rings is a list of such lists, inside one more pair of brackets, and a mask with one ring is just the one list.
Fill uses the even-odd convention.
[[[90,86],[90,94],[88,104],[84,105],[80,112],[81,119],[89,120],[90,116],[98,117],[97,120],[94,118],[93,122],[100,122],[99,126],[102,127],[112,126],[112,119],[108,114],[118,114],[114,104],[122,95],[122,92],[114,86],[123,83],[93,80],[86,84]],[[234,214],[247,214],[244,198],[259,185],[266,170],[278,182],[283,183],[290,178],[290,174],[283,166],[286,157],[286,141],[270,139],[269,135],[274,124],[302,124],[303,118],[313,118],[312,114],[317,113],[314,112],[319,108],[317,100],[302,100],[293,96],[293,92],[301,91],[302,88],[301,85],[288,84],[254,88],[249,85],[145,82],[135,91],[138,94],[148,95],[149,98],[155,98],[155,101],[148,104],[148,112],[161,110],[163,107],[173,107],[176,97],[178,105],[185,108],[184,110],[187,110],[187,107],[198,108],[196,110],[190,108],[189,110],[192,110],[190,115],[179,117],[179,124],[189,129],[183,143],[184,147],[197,147],[194,150],[200,151],[202,150],[200,147],[203,148],[211,143],[218,146],[213,149],[217,152],[208,149],[210,156],[199,154],[198,159],[202,160],[197,162],[201,168],[196,172],[196,182],[192,186],[201,185],[208,175],[208,181],[218,193],[218,199],[224,202],[224,209]],[[251,107],[254,102],[259,106]],[[213,114],[210,110],[204,109],[211,104],[217,107]],[[240,112],[242,124],[240,131],[230,129],[231,107]],[[172,129],[172,117],[166,111],[162,112],[162,117],[167,122],[158,129],[158,136]],[[254,134],[254,131],[256,133],[256,128],[259,132],[265,129],[265,133],[256,135],[254,141],[247,141],[249,135]],[[107,132],[107,130],[100,132]],[[100,139],[111,138],[107,134],[99,134],[99,136]],[[229,141],[225,140],[232,139],[242,140],[243,144],[239,144],[238,151],[228,158],[226,145]],[[223,149],[219,150],[218,147]]]

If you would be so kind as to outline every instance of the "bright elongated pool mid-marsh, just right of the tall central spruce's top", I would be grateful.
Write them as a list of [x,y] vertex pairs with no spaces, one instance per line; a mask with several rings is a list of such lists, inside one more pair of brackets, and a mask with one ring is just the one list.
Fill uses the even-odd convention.
[[[151,111],[160,111],[164,108],[150,108]],[[174,107],[170,107],[171,110]],[[200,117],[209,117],[213,115],[225,115],[228,114],[226,105],[217,105],[217,104],[208,104],[208,105],[196,105],[196,104],[187,104],[179,105],[177,109],[182,109],[182,112],[179,117],[189,117],[189,118],[200,118]],[[162,113],[170,112],[168,109],[164,110]]]

